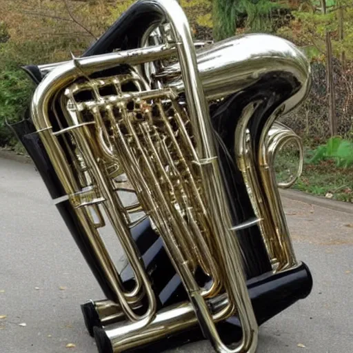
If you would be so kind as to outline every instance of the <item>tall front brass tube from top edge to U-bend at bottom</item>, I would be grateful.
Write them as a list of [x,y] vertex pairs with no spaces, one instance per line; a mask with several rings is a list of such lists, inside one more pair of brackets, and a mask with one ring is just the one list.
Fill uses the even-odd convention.
[[[196,140],[196,152],[198,154],[198,160],[194,162],[199,165],[201,170],[203,190],[210,207],[214,236],[218,239],[217,243],[222,262],[221,268],[229,276],[225,276],[225,288],[230,295],[231,305],[236,305],[243,327],[243,338],[238,347],[230,349],[223,344],[214,325],[212,315],[199,292],[199,288],[195,286],[194,279],[190,277],[188,268],[175,261],[177,268],[179,268],[178,272],[181,274],[185,288],[188,290],[190,301],[194,305],[201,328],[210,339],[214,349],[217,352],[255,352],[258,326],[245,283],[239,243],[236,241],[234,232],[230,230],[232,228],[230,210],[219,171],[208,103],[205,99],[203,83],[197,70],[196,52],[192,45],[188,19],[177,1],[152,0],[148,2],[159,7],[170,22],[175,41],[179,43],[177,49],[181,65],[181,76],[185,85],[188,112],[192,122]],[[174,248],[174,244],[171,245],[173,247],[170,250]]]

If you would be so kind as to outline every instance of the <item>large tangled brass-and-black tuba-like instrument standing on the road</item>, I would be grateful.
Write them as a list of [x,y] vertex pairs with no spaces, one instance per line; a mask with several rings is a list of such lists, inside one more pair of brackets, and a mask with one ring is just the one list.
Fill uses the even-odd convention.
[[[178,1],[139,0],[81,57],[24,70],[37,87],[11,127],[103,290],[81,305],[98,351],[256,352],[259,326],[312,290],[279,194],[302,168],[277,121],[310,91],[301,50],[196,42]],[[280,184],[290,141],[298,173]]]

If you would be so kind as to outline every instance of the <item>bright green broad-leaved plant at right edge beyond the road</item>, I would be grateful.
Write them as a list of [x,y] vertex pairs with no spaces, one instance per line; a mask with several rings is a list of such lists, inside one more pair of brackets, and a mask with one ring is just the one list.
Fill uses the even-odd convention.
[[316,149],[309,162],[319,163],[325,159],[333,159],[337,167],[350,167],[353,165],[353,143],[341,137],[332,137]]

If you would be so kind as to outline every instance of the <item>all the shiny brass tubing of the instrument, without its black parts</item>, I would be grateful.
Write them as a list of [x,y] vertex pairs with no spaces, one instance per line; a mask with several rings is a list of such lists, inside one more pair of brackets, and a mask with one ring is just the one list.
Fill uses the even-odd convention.
[[[279,113],[284,114],[305,98],[310,68],[292,43],[265,34],[228,39],[196,52],[177,1],[140,2],[149,3],[168,22],[166,43],[148,46],[143,40],[134,50],[41,65],[46,77],[34,93],[32,119],[112,292],[94,307],[103,326],[108,325],[105,333],[114,352],[197,323],[216,352],[255,352],[258,325],[243,272],[243,262],[251,259],[244,258],[236,232],[259,224],[274,270],[298,264],[273,160],[288,139],[299,140],[285,126],[273,125],[278,117],[273,114],[256,154],[248,132],[256,102],[243,110],[234,135],[234,160],[256,219],[233,224],[209,101],[281,72],[298,86],[281,105]],[[172,55],[178,63],[155,65]],[[117,71],[92,77],[107,69]],[[122,191],[133,192],[136,201],[125,205]],[[133,219],[139,212],[139,219]],[[162,237],[190,299],[161,312],[130,234],[132,225],[146,216]],[[124,288],[99,234],[108,222],[134,272],[130,290]],[[210,277],[206,288],[196,283],[196,268]],[[143,297],[147,309],[137,314]],[[210,310],[208,304],[214,302]],[[230,348],[221,341],[215,323],[234,314],[241,321],[243,339]]]

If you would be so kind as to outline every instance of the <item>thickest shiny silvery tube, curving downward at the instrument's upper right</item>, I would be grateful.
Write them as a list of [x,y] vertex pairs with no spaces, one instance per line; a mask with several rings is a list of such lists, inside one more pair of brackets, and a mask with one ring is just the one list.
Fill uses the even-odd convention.
[[[276,72],[288,74],[295,78],[299,90],[286,101],[282,114],[305,99],[312,82],[310,63],[303,52],[290,41],[271,34],[239,35],[207,46],[197,53],[197,68],[208,100],[227,97]],[[180,71],[179,63],[175,63],[160,76],[167,82],[170,77],[170,87],[183,92],[183,80],[176,79]]]

